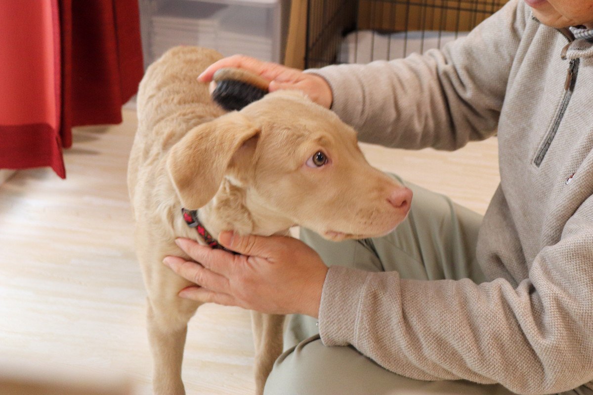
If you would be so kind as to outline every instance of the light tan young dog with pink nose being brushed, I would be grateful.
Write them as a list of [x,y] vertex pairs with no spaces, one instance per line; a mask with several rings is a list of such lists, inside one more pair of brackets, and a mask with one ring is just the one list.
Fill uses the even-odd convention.
[[[199,306],[177,296],[191,284],[162,264],[167,255],[186,256],[176,237],[203,243],[185,223],[182,207],[199,208],[212,235],[287,235],[298,224],[343,240],[390,232],[412,198],[366,162],[352,128],[298,92],[275,92],[225,113],[197,81],[220,57],[195,47],[171,49],[148,68],[138,92],[128,187],[158,395],[184,393],[187,322]],[[284,317],[253,317],[261,394],[282,351]]]

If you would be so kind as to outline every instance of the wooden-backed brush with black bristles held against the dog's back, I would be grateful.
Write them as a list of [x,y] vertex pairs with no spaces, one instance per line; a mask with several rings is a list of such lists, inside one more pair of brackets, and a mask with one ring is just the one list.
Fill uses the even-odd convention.
[[268,92],[270,82],[247,70],[224,68],[212,76],[216,88],[212,99],[227,111],[241,110],[247,104],[261,99]]

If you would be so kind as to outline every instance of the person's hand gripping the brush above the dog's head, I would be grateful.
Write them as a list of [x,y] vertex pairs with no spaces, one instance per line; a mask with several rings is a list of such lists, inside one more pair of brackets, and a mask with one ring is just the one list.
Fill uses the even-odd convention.
[[262,62],[244,55],[233,55],[212,63],[197,79],[201,82],[210,82],[216,70],[227,67],[246,69],[262,76],[270,81],[270,92],[279,89],[296,89],[304,92],[311,100],[326,108],[330,108],[333,102],[331,88],[324,78],[303,73],[301,70],[288,68],[278,63]]

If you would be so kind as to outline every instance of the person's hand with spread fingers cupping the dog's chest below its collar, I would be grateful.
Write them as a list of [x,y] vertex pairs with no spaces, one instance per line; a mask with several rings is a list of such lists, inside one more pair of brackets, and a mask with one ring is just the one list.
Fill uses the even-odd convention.
[[176,240],[196,261],[178,256],[167,256],[163,261],[196,283],[183,288],[180,297],[262,313],[318,317],[327,266],[317,252],[292,237],[222,232],[218,242],[242,255],[211,249],[190,239]]

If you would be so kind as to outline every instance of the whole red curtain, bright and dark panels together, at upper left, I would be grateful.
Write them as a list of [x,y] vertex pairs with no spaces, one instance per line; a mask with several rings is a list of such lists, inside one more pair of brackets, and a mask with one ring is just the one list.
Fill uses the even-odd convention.
[[71,128],[120,123],[142,73],[138,0],[0,0],[0,168],[64,178]]

